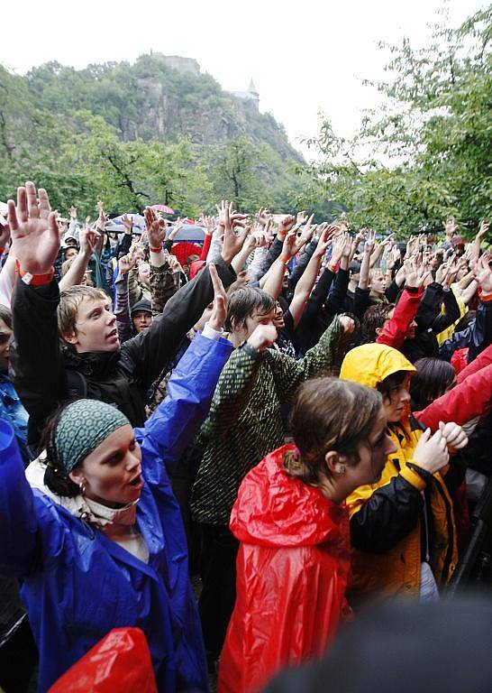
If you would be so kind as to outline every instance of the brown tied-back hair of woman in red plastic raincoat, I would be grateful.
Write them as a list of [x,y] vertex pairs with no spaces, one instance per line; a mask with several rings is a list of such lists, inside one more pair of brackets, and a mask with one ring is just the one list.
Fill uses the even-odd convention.
[[290,413],[290,429],[299,455],[284,457],[284,468],[305,484],[323,487],[330,471],[330,450],[357,465],[359,444],[369,438],[381,409],[374,389],[340,378],[314,378],[302,384]]

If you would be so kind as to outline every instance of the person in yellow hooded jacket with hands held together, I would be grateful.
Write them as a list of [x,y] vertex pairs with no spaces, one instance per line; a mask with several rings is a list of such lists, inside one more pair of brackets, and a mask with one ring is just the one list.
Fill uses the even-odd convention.
[[[352,349],[341,377],[378,389],[396,452],[376,484],[347,499],[351,515],[353,584],[358,598],[420,596],[435,599],[458,559],[451,496],[442,473],[448,448],[466,446],[459,425],[442,418],[432,435],[411,416],[408,392],[415,366],[379,344]],[[432,531],[431,531],[432,528]]]

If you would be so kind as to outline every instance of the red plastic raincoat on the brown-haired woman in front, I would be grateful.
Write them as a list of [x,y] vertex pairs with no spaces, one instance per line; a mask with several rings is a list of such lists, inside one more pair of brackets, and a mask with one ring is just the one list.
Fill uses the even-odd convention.
[[278,448],[251,469],[232,509],[241,545],[220,693],[257,691],[288,664],[321,656],[345,605],[347,511],[287,475],[282,459],[292,449]]

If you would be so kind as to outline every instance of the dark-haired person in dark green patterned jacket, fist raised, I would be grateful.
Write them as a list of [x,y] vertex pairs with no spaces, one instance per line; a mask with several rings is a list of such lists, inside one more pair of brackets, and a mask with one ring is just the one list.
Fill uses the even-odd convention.
[[234,291],[226,328],[235,350],[223,369],[198,441],[204,452],[193,485],[191,512],[202,535],[200,615],[209,665],[219,657],[235,599],[238,543],[229,518],[243,477],[284,440],[281,407],[297,387],[337,369],[354,324],[333,319],[318,344],[296,360],[271,349],[275,301],[260,289]]

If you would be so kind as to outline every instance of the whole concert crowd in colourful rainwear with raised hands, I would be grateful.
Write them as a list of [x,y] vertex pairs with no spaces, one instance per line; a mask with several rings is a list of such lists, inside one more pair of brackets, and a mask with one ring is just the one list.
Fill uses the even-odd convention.
[[398,242],[223,200],[190,252],[144,219],[32,182],[0,216],[5,693],[124,626],[159,691],[260,691],[366,605],[445,596],[487,487],[487,223]]

